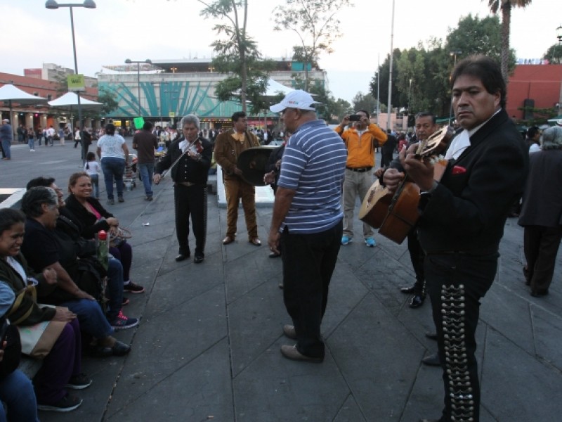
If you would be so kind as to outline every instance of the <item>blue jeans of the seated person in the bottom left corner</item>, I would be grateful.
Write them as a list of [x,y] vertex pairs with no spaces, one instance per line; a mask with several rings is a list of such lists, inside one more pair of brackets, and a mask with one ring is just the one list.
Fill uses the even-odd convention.
[[19,369],[0,381],[0,399],[8,409],[7,419],[4,406],[0,404],[0,422],[39,422],[33,385]]

